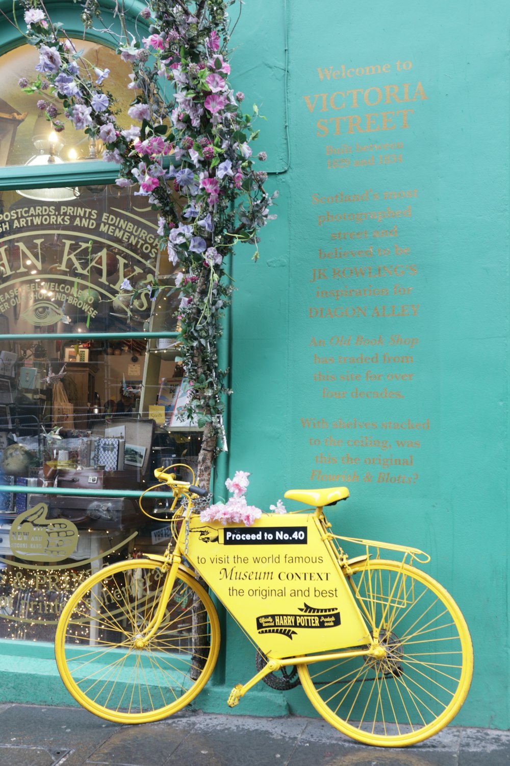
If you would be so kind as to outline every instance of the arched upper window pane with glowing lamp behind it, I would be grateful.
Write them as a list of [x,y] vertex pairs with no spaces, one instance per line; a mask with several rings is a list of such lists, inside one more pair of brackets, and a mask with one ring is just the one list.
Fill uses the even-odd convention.
[[[119,122],[128,127],[131,124],[127,116],[132,101],[132,91],[127,89],[130,67],[115,55],[115,51],[104,45],[90,41],[73,40],[77,51],[83,49],[83,58],[93,67],[109,69],[110,74],[105,87],[116,99],[119,110]],[[39,56],[31,45],[21,45],[0,58],[0,167],[5,165],[31,165],[47,162],[48,155],[54,155],[55,162],[70,162],[84,159],[89,155],[100,155],[101,142],[89,145],[89,138],[83,130],[76,131],[69,123],[62,133],[52,135],[50,123],[44,111],[37,109],[37,101],[54,103],[59,110],[62,102],[48,91],[44,93],[24,93],[18,80],[26,77],[30,82],[36,79],[35,65]],[[67,119],[63,119],[67,123]],[[38,159],[37,159],[38,158]]]

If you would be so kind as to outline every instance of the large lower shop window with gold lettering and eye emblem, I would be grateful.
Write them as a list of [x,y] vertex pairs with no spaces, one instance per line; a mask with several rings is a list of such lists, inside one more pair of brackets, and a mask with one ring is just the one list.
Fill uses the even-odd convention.
[[[164,551],[164,525],[135,497],[102,490],[138,494],[154,467],[197,465],[200,432],[178,417],[186,386],[174,339],[132,337],[174,332],[178,303],[157,214],[135,190],[2,192],[0,481],[78,490],[0,492],[2,638],[53,640],[69,591],[91,568],[134,545]],[[131,337],[89,337],[98,332]]]

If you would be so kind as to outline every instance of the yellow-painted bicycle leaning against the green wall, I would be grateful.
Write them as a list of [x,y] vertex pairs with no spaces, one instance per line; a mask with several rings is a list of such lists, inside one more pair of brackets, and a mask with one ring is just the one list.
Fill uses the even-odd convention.
[[[285,494],[313,512],[263,514],[250,527],[201,522],[193,501],[203,490],[177,480],[173,467],[155,472],[172,493],[165,554],[96,572],[60,617],[57,666],[77,702],[134,724],[197,696],[219,652],[219,620],[200,576],[257,647],[258,672],[232,689],[229,705],[262,679],[277,689],[300,682],[340,732],[386,747],[413,745],[453,719],[473,649],[453,598],[413,566],[430,561],[426,554],[333,535],[323,508],[346,499],[345,487]],[[361,555],[349,558],[346,542]]]

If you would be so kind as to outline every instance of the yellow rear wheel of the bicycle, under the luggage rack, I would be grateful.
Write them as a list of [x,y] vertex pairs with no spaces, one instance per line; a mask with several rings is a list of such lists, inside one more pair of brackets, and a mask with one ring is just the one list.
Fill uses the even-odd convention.
[[445,589],[398,561],[366,561],[347,578],[385,656],[299,666],[310,702],[366,745],[414,745],[459,711],[473,675],[466,622]]

